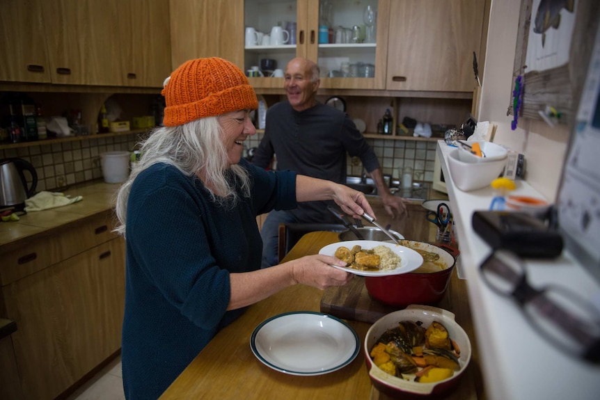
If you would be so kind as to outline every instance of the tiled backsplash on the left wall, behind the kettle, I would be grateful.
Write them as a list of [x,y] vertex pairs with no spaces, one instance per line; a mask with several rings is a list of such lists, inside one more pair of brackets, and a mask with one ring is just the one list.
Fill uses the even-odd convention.
[[[29,161],[38,173],[35,191],[56,191],[101,178],[100,154],[132,150],[137,141],[137,134],[129,134],[54,144],[40,142],[40,145],[0,150],[0,159],[17,157]],[[29,173],[25,175],[29,180]]]

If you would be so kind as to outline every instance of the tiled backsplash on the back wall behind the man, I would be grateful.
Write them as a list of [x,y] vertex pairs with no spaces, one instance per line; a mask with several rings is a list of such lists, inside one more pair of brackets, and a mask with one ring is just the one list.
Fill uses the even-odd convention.
[[[258,147],[263,134],[255,134],[248,138],[246,147]],[[413,181],[433,182],[436,158],[436,141],[401,141],[392,139],[367,139],[379,158],[379,163],[385,175],[400,179],[402,168],[409,166],[413,169]],[[361,176],[363,166],[360,160],[354,165],[352,159],[347,162],[347,175]]]

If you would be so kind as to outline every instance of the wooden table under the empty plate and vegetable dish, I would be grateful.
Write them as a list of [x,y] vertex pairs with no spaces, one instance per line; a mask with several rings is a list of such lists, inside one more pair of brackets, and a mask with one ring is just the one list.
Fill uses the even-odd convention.
[[[338,241],[333,232],[310,232],[290,250],[283,262],[317,254]],[[461,384],[448,399],[482,399],[473,323],[468,310],[465,282],[455,276],[439,305],[455,312],[457,322],[473,344],[473,358]],[[263,365],[250,349],[250,337],[258,324],[283,312],[316,311],[323,291],[305,285],[288,287],[248,308],[239,319],[219,332],[182,374],[162,394],[161,399],[387,399],[375,390],[365,368],[361,351],[356,359],[329,374],[293,376]],[[364,342],[370,323],[347,321]]]

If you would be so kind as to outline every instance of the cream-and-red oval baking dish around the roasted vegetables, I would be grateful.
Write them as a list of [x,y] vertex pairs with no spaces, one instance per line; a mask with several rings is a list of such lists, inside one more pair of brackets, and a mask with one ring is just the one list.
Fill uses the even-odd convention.
[[[429,326],[433,321],[441,323],[448,330],[450,337],[457,342],[461,352],[459,358],[460,369],[455,374],[443,381],[434,383],[419,383],[405,381],[402,378],[392,376],[379,369],[371,360],[370,351],[383,333],[398,326],[400,321],[423,322],[423,326]],[[369,328],[365,336],[365,363],[369,371],[369,378],[379,392],[384,392],[391,397],[402,397],[402,399],[425,399],[427,397],[441,397],[455,387],[471,360],[471,341],[461,326],[455,321],[455,314],[438,307],[428,305],[409,305],[404,310],[391,312],[378,319]],[[408,375],[407,375],[408,377]]]

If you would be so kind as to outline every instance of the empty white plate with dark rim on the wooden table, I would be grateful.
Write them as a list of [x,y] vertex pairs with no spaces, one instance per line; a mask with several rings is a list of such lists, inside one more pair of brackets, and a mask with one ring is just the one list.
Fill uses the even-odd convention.
[[361,344],[352,327],[320,312],[300,311],[276,315],[254,329],[252,352],[284,374],[313,376],[348,365]]

